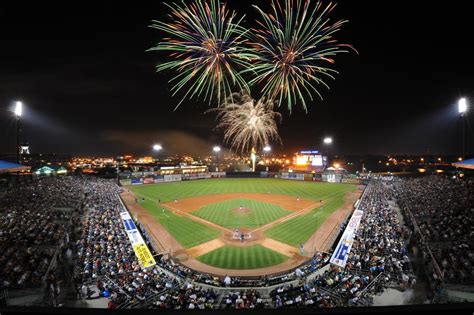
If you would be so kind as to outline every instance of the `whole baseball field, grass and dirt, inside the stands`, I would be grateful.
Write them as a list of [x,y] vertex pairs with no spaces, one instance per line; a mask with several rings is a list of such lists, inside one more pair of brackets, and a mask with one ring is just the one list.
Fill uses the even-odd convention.
[[290,269],[324,250],[361,193],[351,184],[260,178],[127,189],[122,198],[163,251],[234,275]]

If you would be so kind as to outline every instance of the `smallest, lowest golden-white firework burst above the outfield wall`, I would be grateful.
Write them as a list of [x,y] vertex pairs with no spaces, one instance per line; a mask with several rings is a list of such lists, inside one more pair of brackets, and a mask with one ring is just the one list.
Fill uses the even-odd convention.
[[218,129],[224,130],[224,141],[235,152],[248,152],[260,149],[271,140],[281,143],[277,122],[281,114],[273,111],[273,101],[254,100],[247,93],[234,93],[217,111]]

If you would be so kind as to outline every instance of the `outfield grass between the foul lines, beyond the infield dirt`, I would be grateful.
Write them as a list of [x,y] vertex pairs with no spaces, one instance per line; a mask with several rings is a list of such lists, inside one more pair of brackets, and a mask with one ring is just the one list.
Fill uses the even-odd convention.
[[355,187],[351,184],[314,183],[274,178],[223,178],[137,185],[128,188],[139,196],[169,202],[174,199],[239,192],[270,192],[319,201],[345,193]]

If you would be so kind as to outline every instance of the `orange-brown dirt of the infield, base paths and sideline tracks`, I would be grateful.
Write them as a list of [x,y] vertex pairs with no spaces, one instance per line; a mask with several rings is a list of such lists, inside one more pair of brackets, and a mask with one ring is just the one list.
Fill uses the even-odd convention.
[[[313,250],[318,251],[327,251],[327,248],[332,244],[329,244],[333,239],[334,233],[337,233],[341,222],[346,218],[348,213],[352,211],[354,202],[360,197],[362,190],[356,190],[350,192],[345,196],[345,202],[343,206],[333,212],[318,230],[311,236],[311,238],[305,243],[305,249],[309,255],[313,253]],[[283,273],[287,270],[293,269],[302,263],[304,263],[308,257],[301,256],[299,248],[294,246],[284,244],[277,240],[266,238],[263,232],[275,225],[278,225],[284,221],[287,221],[291,218],[298,217],[300,215],[306,214],[309,211],[312,211],[314,208],[320,206],[319,202],[314,202],[314,200],[304,200],[297,199],[292,196],[287,195],[273,195],[273,194],[260,194],[260,193],[233,193],[233,194],[218,194],[218,195],[206,195],[192,198],[185,198],[181,200],[176,200],[173,202],[163,203],[166,209],[174,212],[176,215],[181,215],[188,217],[191,220],[200,222],[211,226],[219,231],[221,231],[221,236],[209,242],[194,246],[192,248],[185,249],[176,239],[156,220],[151,214],[147,212],[140,204],[135,203],[135,195],[131,192],[124,192],[121,194],[122,199],[127,204],[128,209],[133,216],[137,217],[140,222],[145,226],[147,232],[155,240],[155,243],[164,251],[170,252],[172,256],[178,258],[182,264],[185,266],[205,272],[208,274],[216,276],[224,276],[226,274],[230,276],[248,276],[248,277],[257,277],[262,275],[269,274],[278,274]],[[281,206],[284,209],[293,211],[287,216],[284,216],[278,220],[270,222],[267,225],[259,227],[257,229],[244,229],[242,232],[251,233],[251,238],[246,239],[245,242],[240,242],[240,240],[233,239],[232,234],[233,230],[224,228],[218,224],[209,222],[207,220],[201,219],[191,214],[192,211],[198,210],[203,206],[222,202],[229,199],[254,199],[266,203],[275,204]],[[260,244],[264,247],[267,247],[271,250],[274,250],[282,255],[285,255],[288,258],[285,262],[260,269],[251,269],[251,270],[240,270],[240,269],[223,269],[218,267],[213,267],[210,265],[203,264],[196,260],[195,258],[202,256],[208,252],[216,250],[225,245],[231,246],[252,246],[255,244]]]

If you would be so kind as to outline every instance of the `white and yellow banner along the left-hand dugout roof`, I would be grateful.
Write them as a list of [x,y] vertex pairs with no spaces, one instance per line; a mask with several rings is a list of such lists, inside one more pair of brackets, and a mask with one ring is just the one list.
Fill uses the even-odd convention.
[[[123,207],[123,209],[124,208],[125,207]],[[123,226],[125,228],[125,231],[127,232],[128,239],[132,244],[133,251],[137,256],[138,263],[140,264],[140,266],[142,268],[149,268],[156,265],[153,255],[148,249],[148,246],[146,246],[142,235],[135,226],[135,223],[133,222],[132,217],[130,217],[128,211],[123,210],[122,212],[120,212],[120,217],[122,218]]]

